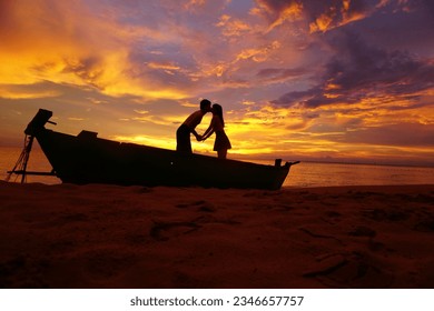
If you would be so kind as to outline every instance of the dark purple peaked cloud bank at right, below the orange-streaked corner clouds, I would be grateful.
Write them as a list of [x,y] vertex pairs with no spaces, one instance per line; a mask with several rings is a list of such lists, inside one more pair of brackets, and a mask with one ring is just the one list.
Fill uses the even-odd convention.
[[316,108],[333,103],[356,103],[364,99],[414,98],[434,87],[434,62],[408,52],[388,52],[369,47],[354,33],[333,40],[336,49],[318,83],[306,91],[293,91],[274,100],[276,104]]

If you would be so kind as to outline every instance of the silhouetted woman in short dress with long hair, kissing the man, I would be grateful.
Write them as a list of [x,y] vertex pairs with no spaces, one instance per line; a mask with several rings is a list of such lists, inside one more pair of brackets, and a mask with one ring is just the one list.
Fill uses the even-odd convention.
[[223,108],[218,103],[211,108],[213,120],[209,128],[205,131],[203,140],[209,138],[216,132],[216,141],[214,142],[214,151],[217,151],[219,159],[226,159],[227,150],[231,148],[230,141],[225,132],[225,120],[223,119]]

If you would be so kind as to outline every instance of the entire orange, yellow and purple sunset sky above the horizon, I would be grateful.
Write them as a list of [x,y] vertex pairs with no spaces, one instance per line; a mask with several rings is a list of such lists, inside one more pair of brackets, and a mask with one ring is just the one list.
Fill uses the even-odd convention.
[[175,149],[208,98],[229,158],[434,165],[431,0],[0,0],[0,146],[45,108]]

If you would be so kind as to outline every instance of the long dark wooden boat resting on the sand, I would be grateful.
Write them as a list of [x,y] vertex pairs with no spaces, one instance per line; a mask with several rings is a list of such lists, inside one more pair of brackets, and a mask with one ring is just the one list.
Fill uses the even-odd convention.
[[294,164],[286,162],[282,165],[282,161],[276,160],[275,165],[264,165],[203,154],[185,154],[101,139],[96,132],[89,131],[70,136],[46,129],[51,117],[51,111],[40,109],[24,133],[38,140],[53,168],[53,174],[67,183],[276,190],[282,187]]

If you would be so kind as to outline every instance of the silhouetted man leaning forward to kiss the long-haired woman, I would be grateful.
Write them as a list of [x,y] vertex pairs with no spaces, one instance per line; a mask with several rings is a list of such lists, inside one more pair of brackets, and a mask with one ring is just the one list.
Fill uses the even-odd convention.
[[200,123],[203,117],[211,111],[211,102],[207,99],[200,101],[200,110],[193,112],[176,131],[176,150],[184,153],[193,153],[190,133],[197,141],[201,137],[196,132],[196,127]]

